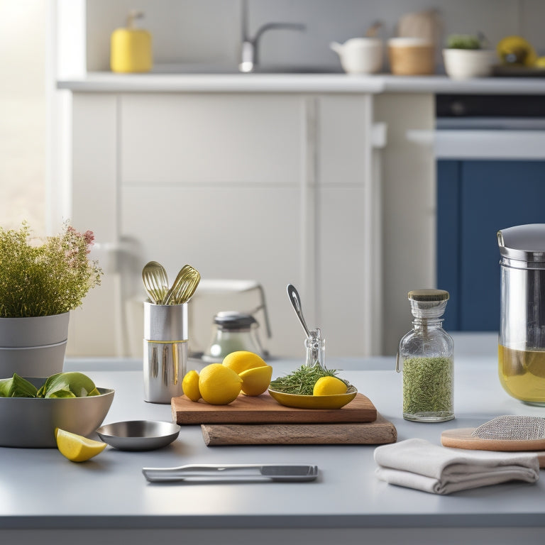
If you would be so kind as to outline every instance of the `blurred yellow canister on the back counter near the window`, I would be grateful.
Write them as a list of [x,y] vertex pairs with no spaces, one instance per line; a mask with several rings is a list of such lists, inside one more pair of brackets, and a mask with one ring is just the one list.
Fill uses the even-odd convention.
[[112,72],[149,72],[153,66],[151,34],[136,28],[134,22],[143,17],[141,11],[128,14],[126,28],[111,33],[110,67]]

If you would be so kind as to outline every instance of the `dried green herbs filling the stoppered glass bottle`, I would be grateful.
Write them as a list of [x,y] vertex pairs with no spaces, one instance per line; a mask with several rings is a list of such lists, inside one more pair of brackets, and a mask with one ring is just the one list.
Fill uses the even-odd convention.
[[403,362],[403,412],[452,412],[452,360],[407,358]]

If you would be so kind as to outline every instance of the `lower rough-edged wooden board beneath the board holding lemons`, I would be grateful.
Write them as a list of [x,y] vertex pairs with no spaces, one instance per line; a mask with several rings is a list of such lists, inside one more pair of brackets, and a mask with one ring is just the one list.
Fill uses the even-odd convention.
[[395,443],[394,424],[378,414],[375,422],[336,424],[202,424],[207,446]]

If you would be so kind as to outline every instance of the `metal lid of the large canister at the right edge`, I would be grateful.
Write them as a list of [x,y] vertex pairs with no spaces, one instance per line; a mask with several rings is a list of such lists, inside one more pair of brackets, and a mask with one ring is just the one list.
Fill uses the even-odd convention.
[[527,224],[497,231],[500,255],[505,258],[545,262],[545,224]]

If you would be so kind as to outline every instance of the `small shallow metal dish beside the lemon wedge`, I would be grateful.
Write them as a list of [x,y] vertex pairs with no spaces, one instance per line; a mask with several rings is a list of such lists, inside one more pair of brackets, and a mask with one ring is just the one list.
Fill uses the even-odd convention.
[[158,420],[128,420],[100,426],[97,434],[120,451],[153,451],[170,445],[180,434],[180,426]]

